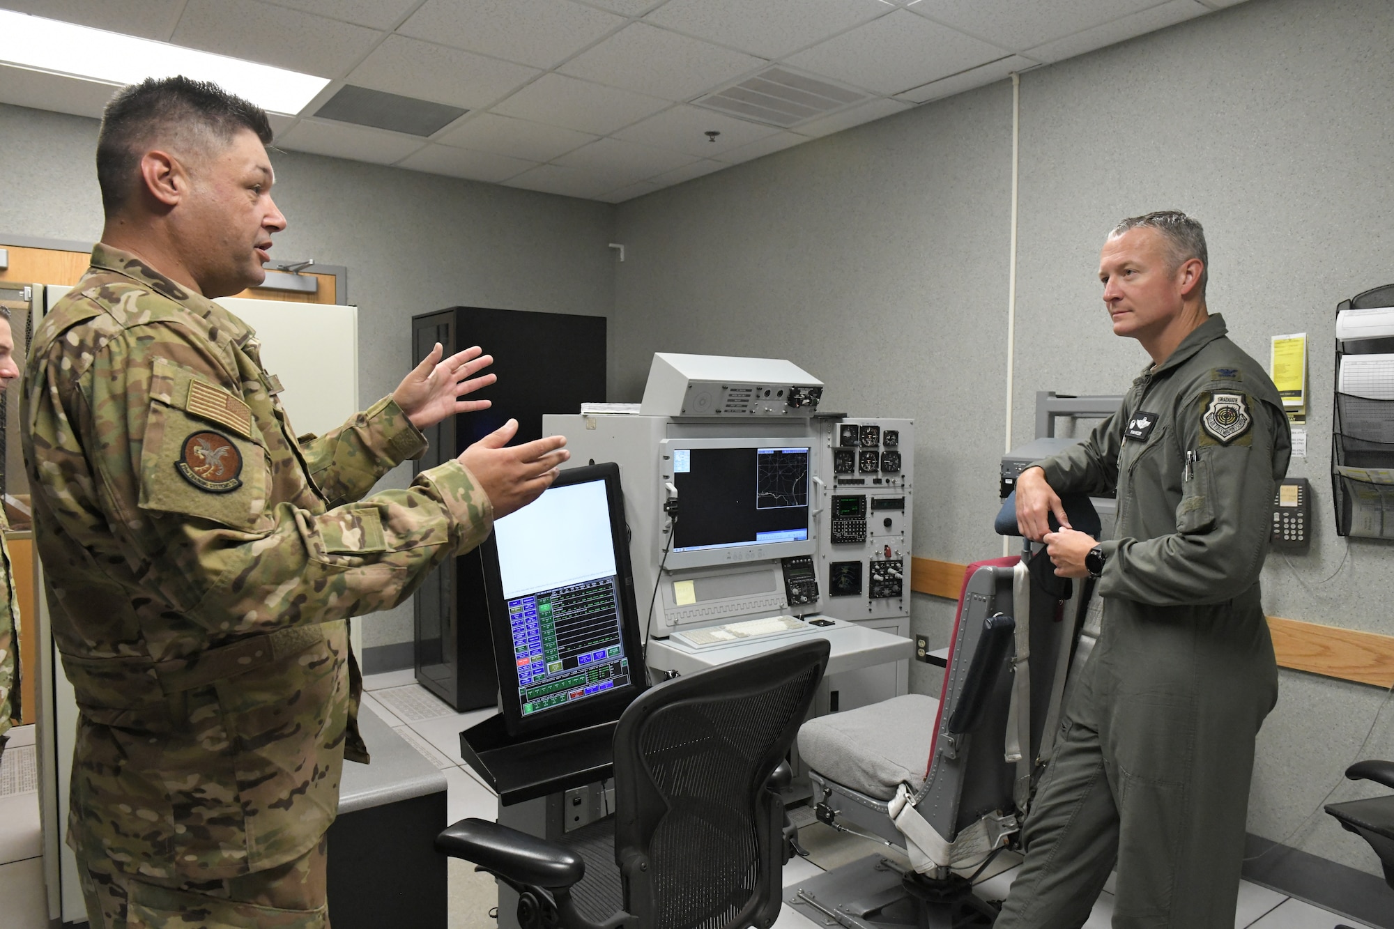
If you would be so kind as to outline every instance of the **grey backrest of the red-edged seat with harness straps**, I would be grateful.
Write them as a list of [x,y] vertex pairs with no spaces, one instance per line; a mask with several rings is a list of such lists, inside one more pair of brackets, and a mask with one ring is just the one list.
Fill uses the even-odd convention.
[[[1012,601],[1016,558],[969,565],[949,644],[949,661],[940,695],[926,784],[916,809],[945,840],[994,812],[1015,809],[1016,764],[1005,760],[1006,723],[1012,700],[1015,646],[1001,647],[1006,626],[994,617],[1018,618]],[[1071,649],[1078,633],[1076,597],[1064,604],[1040,587],[1032,589],[1030,637],[1030,745],[1022,746],[1034,760],[1054,732],[1046,732],[1055,677],[1064,667],[1061,649]],[[984,656],[990,661],[984,661]],[[977,658],[977,661],[974,661]],[[976,668],[973,665],[977,665]],[[991,667],[987,667],[991,664]],[[972,707],[972,713],[955,713]],[[958,718],[955,718],[958,717]],[[967,718],[966,731],[951,731],[951,721]]]

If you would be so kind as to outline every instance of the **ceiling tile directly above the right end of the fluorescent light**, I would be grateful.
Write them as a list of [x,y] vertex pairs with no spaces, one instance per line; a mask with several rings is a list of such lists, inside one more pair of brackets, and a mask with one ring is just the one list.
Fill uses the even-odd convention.
[[174,45],[343,77],[382,39],[381,32],[256,0],[188,0]]

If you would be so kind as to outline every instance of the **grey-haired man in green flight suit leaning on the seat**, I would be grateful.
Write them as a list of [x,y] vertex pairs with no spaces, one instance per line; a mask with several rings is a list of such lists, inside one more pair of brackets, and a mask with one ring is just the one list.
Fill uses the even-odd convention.
[[[1153,363],[1016,485],[1022,533],[1057,575],[1097,577],[1104,615],[997,929],[1083,925],[1115,865],[1114,926],[1234,925],[1255,737],[1277,702],[1259,571],[1291,444],[1273,382],[1206,310],[1207,261],[1185,213],[1112,230],[1104,304]],[[1110,490],[1114,538],[1069,529],[1061,492]]]

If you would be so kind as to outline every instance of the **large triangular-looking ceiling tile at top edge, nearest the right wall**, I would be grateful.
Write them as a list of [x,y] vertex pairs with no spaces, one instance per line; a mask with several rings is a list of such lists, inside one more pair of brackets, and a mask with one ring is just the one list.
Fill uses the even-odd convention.
[[1131,15],[1157,0],[921,0],[913,13],[1011,52]]

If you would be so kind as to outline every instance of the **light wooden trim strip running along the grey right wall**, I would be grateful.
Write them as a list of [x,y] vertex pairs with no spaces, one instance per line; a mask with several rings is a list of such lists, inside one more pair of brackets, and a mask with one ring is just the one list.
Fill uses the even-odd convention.
[[[910,590],[958,600],[967,565],[934,558],[910,559]],[[1394,636],[1269,617],[1278,667],[1327,678],[1394,686]]]

